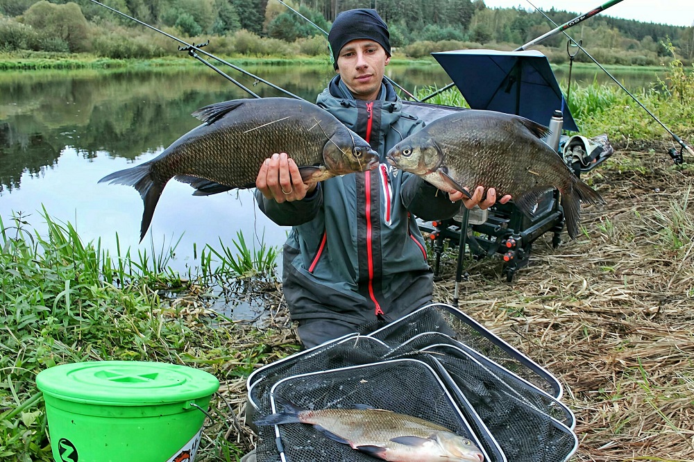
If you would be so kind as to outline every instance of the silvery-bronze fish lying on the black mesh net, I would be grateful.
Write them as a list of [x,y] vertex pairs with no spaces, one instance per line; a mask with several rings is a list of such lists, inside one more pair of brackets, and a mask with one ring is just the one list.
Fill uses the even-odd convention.
[[484,462],[471,440],[427,420],[384,409],[298,409],[260,418],[257,425],[304,423],[328,438],[392,462]]

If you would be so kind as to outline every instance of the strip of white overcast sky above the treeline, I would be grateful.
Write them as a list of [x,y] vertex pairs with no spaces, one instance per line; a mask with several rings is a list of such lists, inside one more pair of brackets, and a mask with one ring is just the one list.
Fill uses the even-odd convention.
[[[575,12],[576,15],[589,12],[593,8],[607,3],[607,0],[530,0],[541,10],[556,10]],[[521,7],[532,10],[527,0],[484,0],[489,8]],[[694,24],[694,0],[623,0],[600,15],[636,19],[643,22],[673,24],[675,26],[691,26]],[[591,19],[586,19],[591,21]],[[586,23],[587,24],[587,23]]]

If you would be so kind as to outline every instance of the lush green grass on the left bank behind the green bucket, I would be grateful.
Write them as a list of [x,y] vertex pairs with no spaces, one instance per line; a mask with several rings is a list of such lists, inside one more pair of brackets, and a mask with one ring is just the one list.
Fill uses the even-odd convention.
[[[252,370],[238,357],[260,361],[269,354],[257,348],[268,343],[269,333],[256,332],[257,339],[239,350],[229,341],[235,323],[187,321],[183,308],[160,295],[204,287],[215,271],[187,281],[168,268],[168,250],[133,258],[130,250],[121,255],[118,248],[111,255],[101,241],[83,243],[71,224],[43,213],[45,235],[26,230],[24,216],[15,215],[11,223],[0,219],[0,460],[52,460],[35,386],[35,376],[45,368],[88,360],[167,361],[205,368],[223,379],[246,377]],[[206,253],[208,269],[214,255],[226,268],[225,277],[272,270],[273,250],[254,252],[242,234],[237,239],[244,255],[222,245]],[[218,439],[214,445],[235,460],[238,448]]]

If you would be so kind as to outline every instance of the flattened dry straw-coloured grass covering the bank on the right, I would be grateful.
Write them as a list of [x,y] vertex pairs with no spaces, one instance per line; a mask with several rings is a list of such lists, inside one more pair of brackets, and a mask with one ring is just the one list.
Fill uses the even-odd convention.
[[[694,169],[664,152],[618,151],[587,176],[607,205],[583,209],[579,239],[539,239],[510,284],[500,259],[475,262],[462,285],[461,309],[564,384],[575,462],[694,460]],[[439,302],[452,301],[454,265]],[[278,345],[294,339],[287,325],[273,323]],[[249,447],[245,382],[221,395],[236,420],[226,438]]]

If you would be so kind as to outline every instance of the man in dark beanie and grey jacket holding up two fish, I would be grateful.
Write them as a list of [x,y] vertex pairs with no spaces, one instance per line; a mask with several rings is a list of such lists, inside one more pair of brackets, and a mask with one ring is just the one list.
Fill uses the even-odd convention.
[[[450,218],[464,198],[385,164],[389,148],[423,123],[403,112],[383,78],[391,49],[378,13],[342,12],[328,42],[338,75],[317,103],[366,139],[382,164],[310,187],[301,181],[291,153],[277,153],[260,168],[255,193],[260,209],[279,225],[293,227],[283,250],[282,290],[305,348],[375,320],[396,320],[430,302],[433,275],[414,216]],[[466,207],[493,205],[496,192],[489,189],[482,201],[483,193],[477,187]]]

